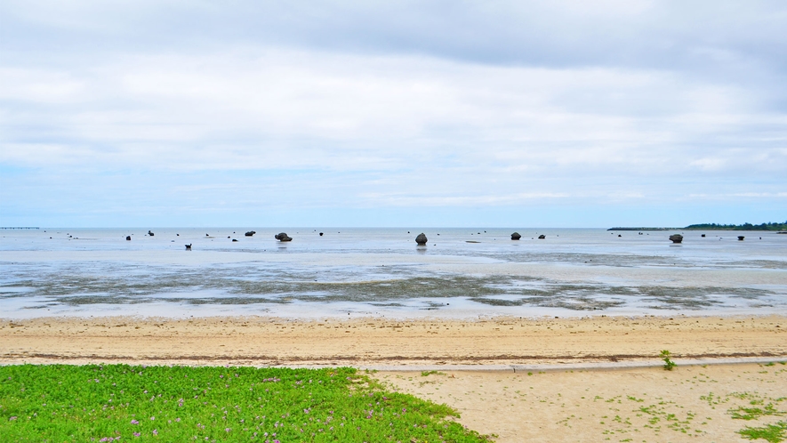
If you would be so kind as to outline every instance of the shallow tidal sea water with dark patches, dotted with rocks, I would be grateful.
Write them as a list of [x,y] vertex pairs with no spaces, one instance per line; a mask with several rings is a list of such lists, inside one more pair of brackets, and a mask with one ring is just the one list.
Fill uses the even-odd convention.
[[787,313],[775,232],[150,230],[0,230],[0,317]]

